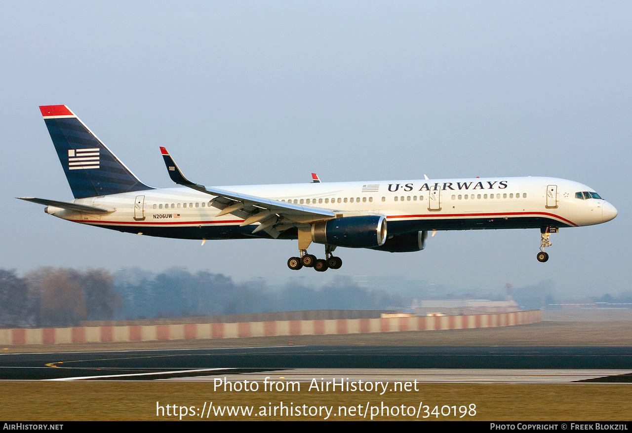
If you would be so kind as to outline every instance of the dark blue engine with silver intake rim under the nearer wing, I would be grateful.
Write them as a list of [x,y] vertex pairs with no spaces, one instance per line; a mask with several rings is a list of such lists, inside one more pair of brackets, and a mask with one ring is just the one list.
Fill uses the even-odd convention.
[[312,224],[312,242],[352,248],[384,245],[386,217],[363,215],[343,217]]

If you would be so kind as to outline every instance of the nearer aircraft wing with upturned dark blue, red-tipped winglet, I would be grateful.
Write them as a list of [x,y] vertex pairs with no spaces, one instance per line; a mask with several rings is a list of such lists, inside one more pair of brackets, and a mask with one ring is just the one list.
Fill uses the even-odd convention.
[[295,205],[284,201],[250,196],[214,187],[207,188],[204,185],[195,184],[186,179],[166,148],[161,147],[161,152],[172,181],[178,185],[190,187],[214,196],[210,203],[221,210],[217,215],[218,217],[231,213],[236,217],[244,218],[244,222],[241,223],[242,226],[260,223],[253,230],[253,233],[264,230],[267,234],[276,238],[288,228],[331,220],[336,217],[336,214],[329,209]]

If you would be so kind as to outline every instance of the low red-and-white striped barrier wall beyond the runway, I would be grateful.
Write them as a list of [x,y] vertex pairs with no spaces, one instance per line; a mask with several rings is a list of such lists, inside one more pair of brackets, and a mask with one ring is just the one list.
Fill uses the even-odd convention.
[[542,311],[472,316],[313,319],[241,323],[186,323],[85,328],[0,329],[0,345],[195,340],[258,336],[362,334],[495,328],[542,321]]

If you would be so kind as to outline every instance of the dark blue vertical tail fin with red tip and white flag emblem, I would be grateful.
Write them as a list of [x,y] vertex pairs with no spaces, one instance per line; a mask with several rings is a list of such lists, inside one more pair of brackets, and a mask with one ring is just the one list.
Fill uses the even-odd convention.
[[139,181],[66,105],[40,110],[75,198],[154,189]]

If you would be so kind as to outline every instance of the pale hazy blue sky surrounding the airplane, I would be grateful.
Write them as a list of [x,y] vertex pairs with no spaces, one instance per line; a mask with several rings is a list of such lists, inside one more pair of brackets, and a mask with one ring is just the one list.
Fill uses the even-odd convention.
[[[0,268],[632,290],[630,22],[626,1],[4,2]],[[547,263],[535,258],[538,230],[470,230],[437,232],[420,252],[341,248],[340,270],[291,271],[296,241],[200,246],[16,200],[72,198],[38,109],[57,104],[158,187],[173,186],[166,146],[204,185],[312,172],[324,182],[550,176],[592,187],[619,215],[552,235]]]

